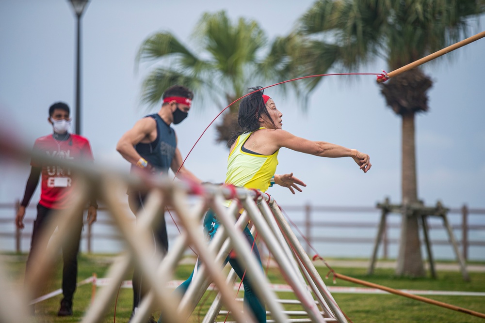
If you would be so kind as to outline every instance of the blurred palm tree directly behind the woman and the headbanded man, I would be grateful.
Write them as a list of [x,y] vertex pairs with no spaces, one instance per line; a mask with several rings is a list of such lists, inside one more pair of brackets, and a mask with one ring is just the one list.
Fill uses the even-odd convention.
[[[170,32],[157,32],[144,41],[137,61],[156,61],[158,65],[144,80],[143,102],[155,105],[167,87],[182,84],[194,90],[196,102],[209,98],[222,109],[244,95],[249,86],[298,76],[299,65],[287,59],[289,53],[294,54],[291,48],[304,47],[295,46],[297,35],[279,37],[268,45],[258,23],[240,18],[233,24],[221,11],[202,15],[193,39],[194,49],[184,46]],[[297,95],[303,93],[296,85],[293,88]],[[239,127],[238,107],[238,103],[233,104],[217,125],[219,142],[226,143]]]

